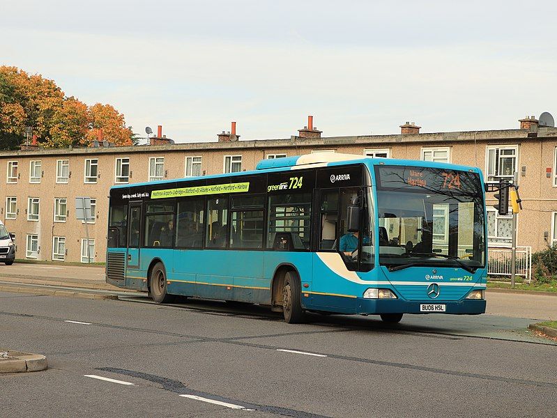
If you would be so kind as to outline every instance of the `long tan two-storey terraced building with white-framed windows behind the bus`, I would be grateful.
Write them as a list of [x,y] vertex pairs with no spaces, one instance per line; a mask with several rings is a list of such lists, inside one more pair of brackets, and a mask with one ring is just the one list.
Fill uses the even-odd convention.
[[[557,242],[557,129],[540,126],[533,116],[519,123],[513,130],[436,133],[420,133],[419,126],[405,123],[398,134],[323,137],[310,117],[297,135],[285,139],[241,141],[233,123],[231,132],[218,134],[215,142],[174,144],[160,127],[143,146],[22,146],[0,153],[0,218],[17,236],[17,258],[104,262],[112,185],[245,171],[266,158],[349,153],[476,166],[487,181],[512,179],[517,172],[524,205],[517,243],[521,251],[537,251]],[[89,241],[84,222],[75,218],[76,196],[91,198]],[[512,216],[499,216],[491,208],[493,196],[488,198],[491,254],[505,254],[511,245]],[[448,239],[448,214],[435,216],[437,239]]]

